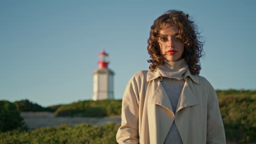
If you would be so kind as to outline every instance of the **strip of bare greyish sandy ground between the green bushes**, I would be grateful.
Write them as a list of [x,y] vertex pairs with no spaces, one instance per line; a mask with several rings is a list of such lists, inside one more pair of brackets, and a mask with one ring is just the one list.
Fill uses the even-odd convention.
[[36,129],[42,127],[54,127],[68,124],[72,127],[77,124],[89,123],[94,125],[104,125],[108,122],[121,124],[121,116],[91,118],[91,117],[55,117],[53,112],[21,112],[28,128]]

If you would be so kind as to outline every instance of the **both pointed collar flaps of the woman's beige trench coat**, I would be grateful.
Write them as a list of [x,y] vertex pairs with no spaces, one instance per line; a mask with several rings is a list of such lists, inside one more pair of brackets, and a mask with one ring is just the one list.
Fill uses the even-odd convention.
[[[191,80],[193,80],[194,82],[198,83],[199,84],[199,80],[198,80],[198,77],[197,75],[192,75],[190,73],[189,70],[185,71],[184,73],[184,79],[187,79],[187,77],[189,76]],[[148,71],[147,73],[147,82],[149,81],[152,81],[154,79],[157,79],[158,77],[160,77],[160,81],[162,80],[162,75],[159,73],[159,71]]]

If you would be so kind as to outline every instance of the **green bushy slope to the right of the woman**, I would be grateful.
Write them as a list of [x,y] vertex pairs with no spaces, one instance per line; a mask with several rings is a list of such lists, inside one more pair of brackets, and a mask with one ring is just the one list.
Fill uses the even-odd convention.
[[227,139],[256,141],[256,91],[217,91]]

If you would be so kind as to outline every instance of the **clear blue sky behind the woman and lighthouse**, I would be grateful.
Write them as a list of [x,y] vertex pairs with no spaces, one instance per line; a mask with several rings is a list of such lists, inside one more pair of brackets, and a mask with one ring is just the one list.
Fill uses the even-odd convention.
[[114,96],[147,70],[153,21],[183,10],[205,40],[201,76],[216,89],[256,89],[256,1],[1,1],[0,99],[42,106],[92,98],[98,53],[109,53]]

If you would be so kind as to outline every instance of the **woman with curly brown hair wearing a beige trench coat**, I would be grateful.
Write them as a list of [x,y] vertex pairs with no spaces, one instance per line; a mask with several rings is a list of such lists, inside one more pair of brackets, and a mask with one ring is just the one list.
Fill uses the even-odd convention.
[[152,64],[126,86],[118,143],[225,143],[216,92],[199,76],[203,44],[189,18],[169,10],[154,21]]

